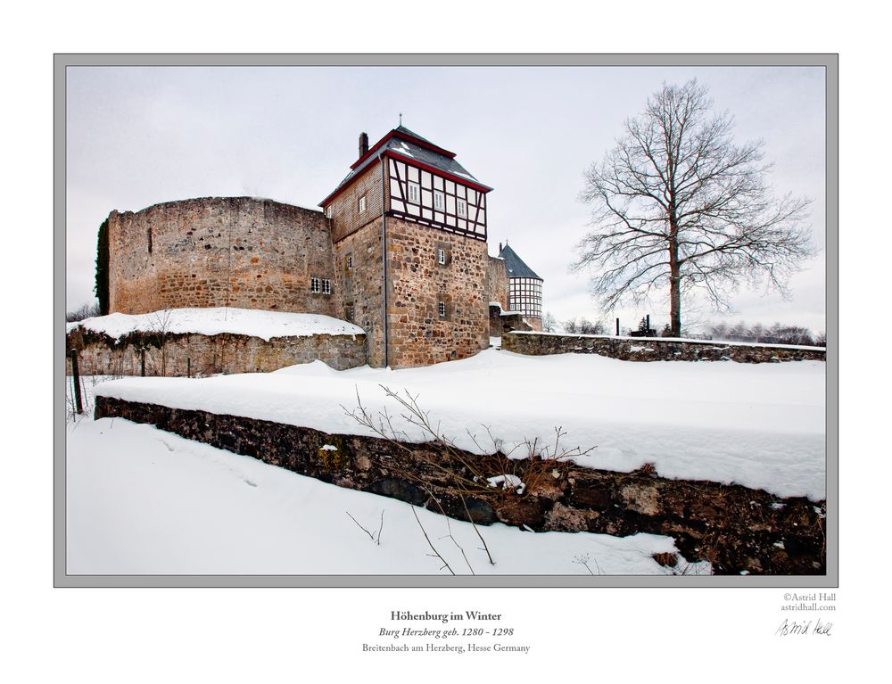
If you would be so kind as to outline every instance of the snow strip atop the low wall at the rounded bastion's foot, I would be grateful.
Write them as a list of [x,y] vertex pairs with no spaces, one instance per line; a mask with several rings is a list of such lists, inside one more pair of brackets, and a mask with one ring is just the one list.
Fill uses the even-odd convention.
[[260,309],[165,309],[148,314],[110,314],[69,323],[70,332],[78,326],[117,340],[136,331],[172,334],[244,334],[269,340],[273,337],[305,337],[313,334],[357,335],[362,328],[321,314],[293,314]]

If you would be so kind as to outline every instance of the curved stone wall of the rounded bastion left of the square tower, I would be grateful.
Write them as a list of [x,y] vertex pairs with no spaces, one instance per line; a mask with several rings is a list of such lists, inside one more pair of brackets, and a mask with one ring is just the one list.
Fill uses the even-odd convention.
[[[205,197],[112,211],[110,313],[231,306],[341,317],[334,251],[319,211]],[[310,293],[329,278],[331,294]]]

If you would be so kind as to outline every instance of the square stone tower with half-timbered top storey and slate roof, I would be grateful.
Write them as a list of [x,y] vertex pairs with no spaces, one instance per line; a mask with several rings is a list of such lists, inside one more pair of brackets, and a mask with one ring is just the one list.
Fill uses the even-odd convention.
[[[408,128],[369,146],[320,202],[335,243],[344,317],[367,333],[373,365],[423,366],[489,344],[504,260],[487,254],[484,185],[455,152]],[[496,288],[498,289],[498,288]]]

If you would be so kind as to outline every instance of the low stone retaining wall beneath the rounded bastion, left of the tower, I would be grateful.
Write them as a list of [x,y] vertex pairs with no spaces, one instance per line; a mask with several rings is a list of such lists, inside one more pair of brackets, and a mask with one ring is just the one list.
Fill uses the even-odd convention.
[[[67,348],[78,350],[81,375],[145,375],[185,377],[217,373],[268,373],[317,359],[337,370],[366,363],[366,336],[306,335],[260,337],[242,334],[131,333],[113,340],[78,327],[67,336]],[[66,360],[66,373],[71,365]]]

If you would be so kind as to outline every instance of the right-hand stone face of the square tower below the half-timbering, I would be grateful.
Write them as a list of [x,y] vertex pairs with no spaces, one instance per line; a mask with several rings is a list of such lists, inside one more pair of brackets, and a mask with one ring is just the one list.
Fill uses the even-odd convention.
[[[446,264],[437,262],[437,249]],[[489,346],[486,243],[387,218],[387,325],[392,367],[467,358]],[[441,317],[438,303],[446,304]]]

